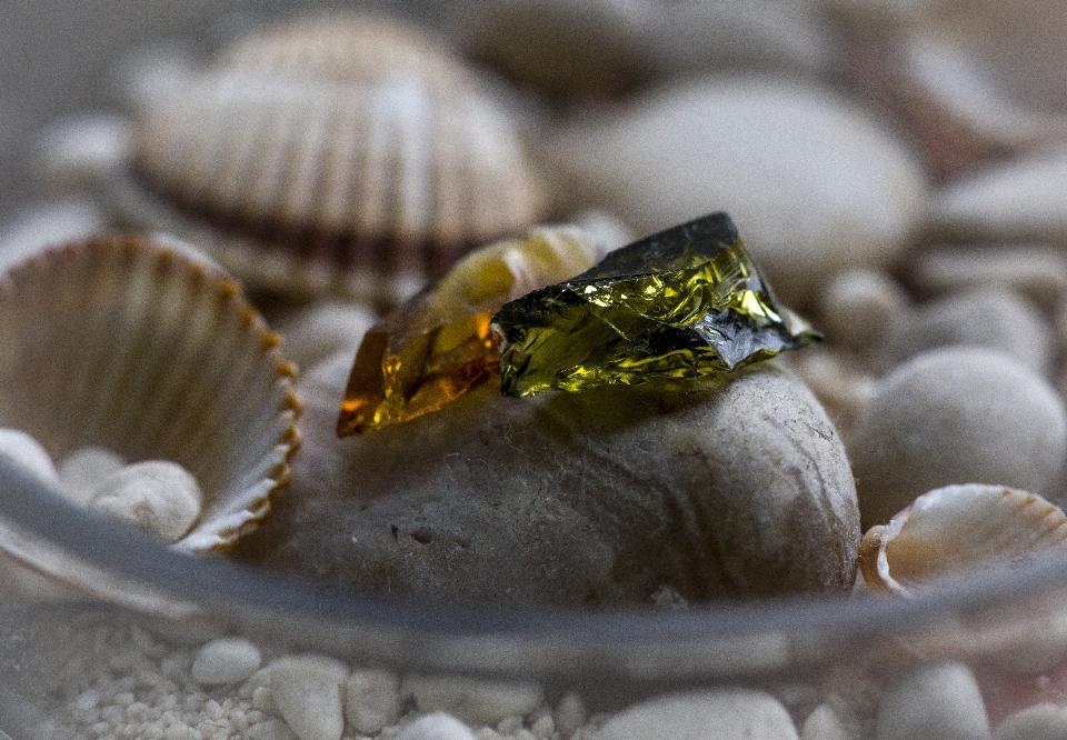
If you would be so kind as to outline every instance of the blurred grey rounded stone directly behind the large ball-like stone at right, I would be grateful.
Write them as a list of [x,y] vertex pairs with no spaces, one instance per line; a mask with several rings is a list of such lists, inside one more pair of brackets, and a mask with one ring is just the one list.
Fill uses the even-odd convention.
[[1053,364],[1053,332],[1037,307],[1006,290],[978,290],[927,303],[897,324],[886,337],[882,366],[960,344],[1000,350],[1041,376]]

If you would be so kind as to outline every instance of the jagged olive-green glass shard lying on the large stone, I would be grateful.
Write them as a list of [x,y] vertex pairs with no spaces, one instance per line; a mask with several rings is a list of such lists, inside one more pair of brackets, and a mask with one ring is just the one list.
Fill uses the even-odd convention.
[[610,252],[492,318],[501,390],[527,397],[734,370],[819,339],[780,308],[726,213]]

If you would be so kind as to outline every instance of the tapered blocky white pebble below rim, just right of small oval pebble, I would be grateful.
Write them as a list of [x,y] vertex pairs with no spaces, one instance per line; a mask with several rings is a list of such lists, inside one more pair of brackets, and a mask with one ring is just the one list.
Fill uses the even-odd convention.
[[331,658],[288,656],[270,664],[270,693],[300,740],[340,740],[348,667]]

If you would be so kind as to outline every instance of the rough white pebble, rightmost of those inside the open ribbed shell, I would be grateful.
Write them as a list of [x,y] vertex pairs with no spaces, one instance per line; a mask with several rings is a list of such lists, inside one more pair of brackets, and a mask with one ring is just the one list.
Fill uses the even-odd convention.
[[127,466],[92,494],[90,506],[114,519],[176,542],[200,516],[202,494],[185,468],[167,460]]

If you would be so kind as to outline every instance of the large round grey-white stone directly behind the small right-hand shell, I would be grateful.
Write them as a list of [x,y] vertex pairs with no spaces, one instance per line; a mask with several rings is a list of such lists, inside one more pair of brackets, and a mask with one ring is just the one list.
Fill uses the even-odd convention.
[[866,530],[943,486],[1046,494],[1067,452],[1067,416],[1033,370],[993,350],[950,347],[884,378],[850,440]]

